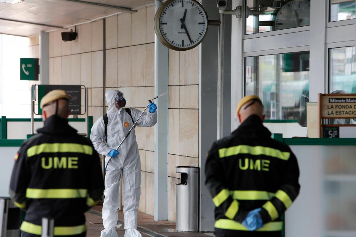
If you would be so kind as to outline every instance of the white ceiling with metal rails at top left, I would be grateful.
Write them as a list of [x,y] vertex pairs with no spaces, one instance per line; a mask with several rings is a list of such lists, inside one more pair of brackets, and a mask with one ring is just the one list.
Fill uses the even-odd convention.
[[[85,0],[128,9],[151,4],[154,0]],[[19,4],[0,2],[0,34],[32,36],[40,31],[58,29],[121,12],[114,7],[97,6],[67,0],[25,0]],[[8,19],[8,20],[2,20]],[[23,21],[23,22],[16,22]],[[49,26],[39,26],[30,23]]]

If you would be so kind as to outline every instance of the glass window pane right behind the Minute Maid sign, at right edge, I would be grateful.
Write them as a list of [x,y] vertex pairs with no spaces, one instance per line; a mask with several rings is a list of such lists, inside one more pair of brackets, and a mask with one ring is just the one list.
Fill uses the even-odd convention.
[[330,93],[338,90],[356,93],[355,50],[355,46],[329,50]]

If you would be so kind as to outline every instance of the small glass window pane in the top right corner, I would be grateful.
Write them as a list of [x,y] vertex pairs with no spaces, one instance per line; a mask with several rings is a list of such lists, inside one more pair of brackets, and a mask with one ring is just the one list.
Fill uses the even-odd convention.
[[355,18],[355,0],[330,0],[330,21]]

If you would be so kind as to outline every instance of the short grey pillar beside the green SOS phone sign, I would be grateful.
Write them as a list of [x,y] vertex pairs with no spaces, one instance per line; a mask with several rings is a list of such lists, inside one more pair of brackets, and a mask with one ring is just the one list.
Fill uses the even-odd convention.
[[40,33],[40,79],[42,85],[49,84],[49,34]]

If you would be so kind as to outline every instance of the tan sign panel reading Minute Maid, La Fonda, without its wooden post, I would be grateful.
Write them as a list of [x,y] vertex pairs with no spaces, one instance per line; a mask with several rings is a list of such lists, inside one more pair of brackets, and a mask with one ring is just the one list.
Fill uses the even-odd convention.
[[321,102],[322,118],[356,118],[356,94],[325,94]]

